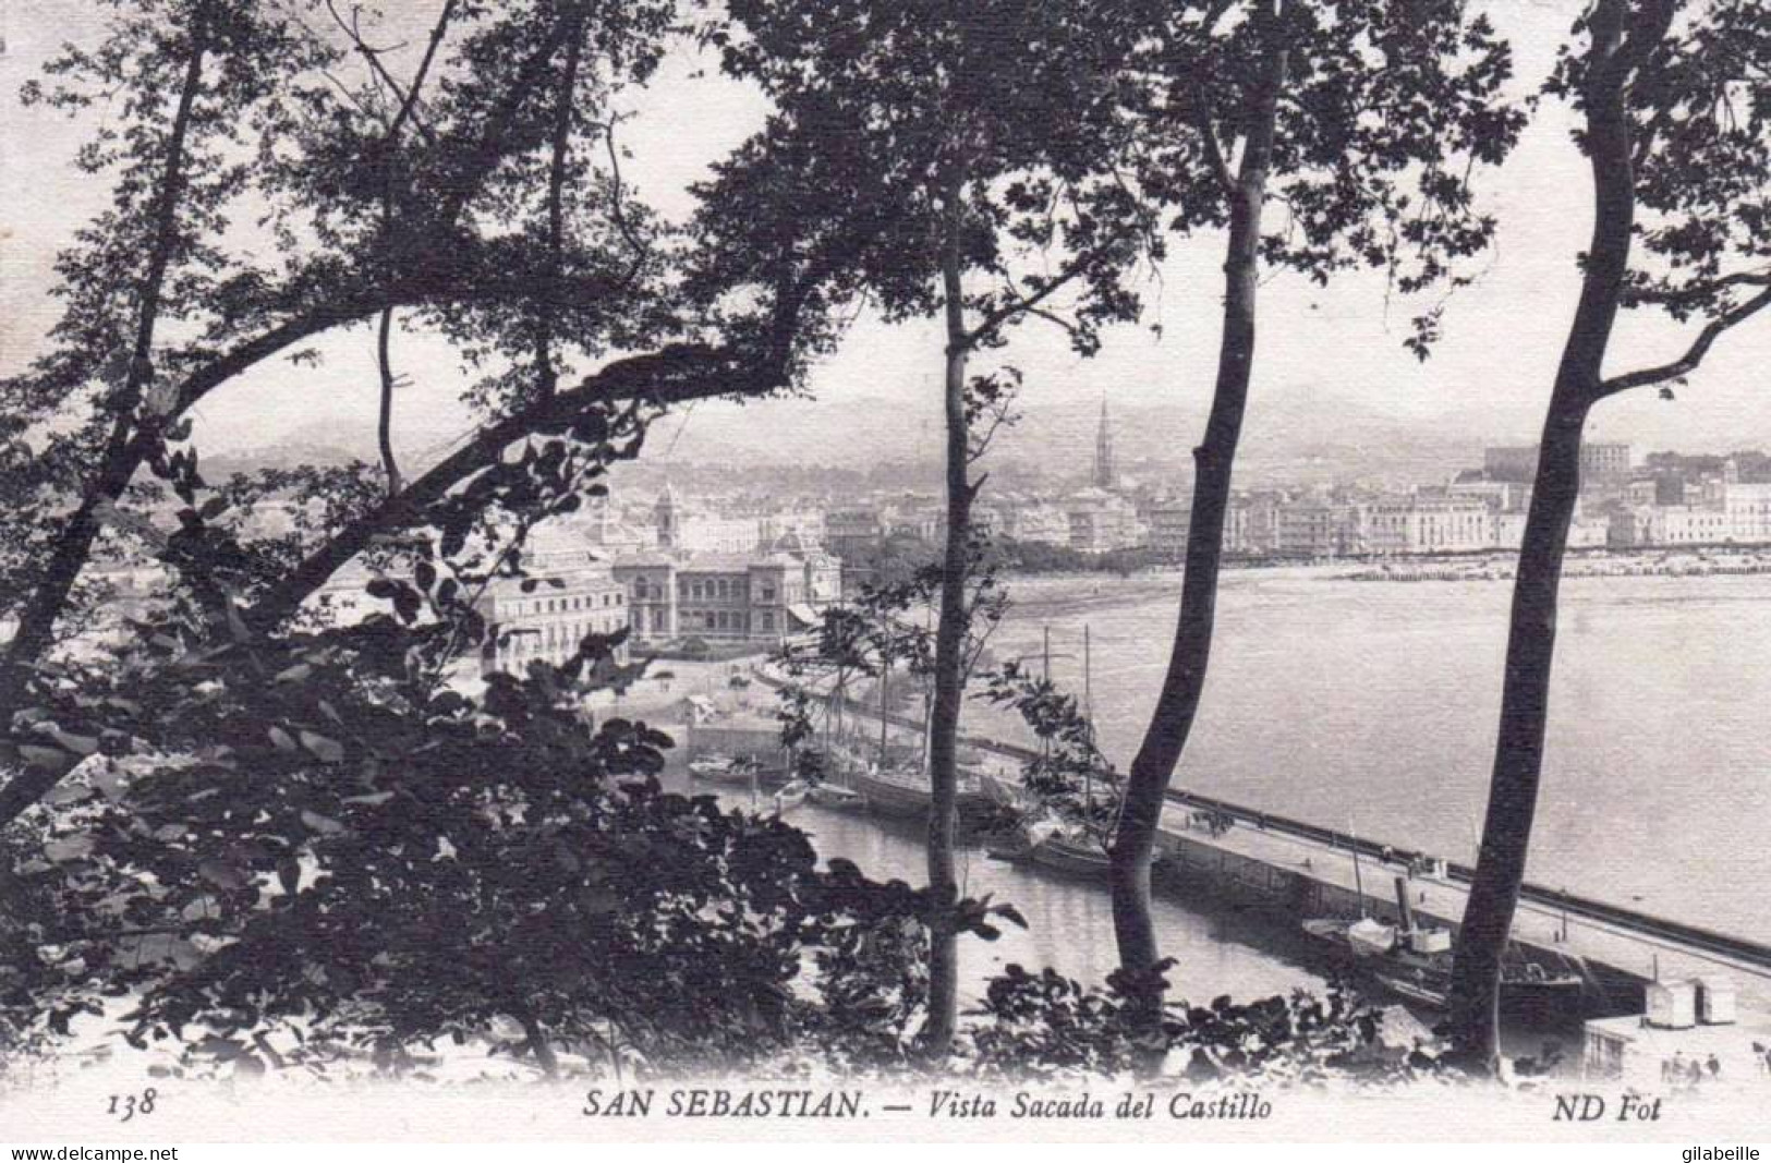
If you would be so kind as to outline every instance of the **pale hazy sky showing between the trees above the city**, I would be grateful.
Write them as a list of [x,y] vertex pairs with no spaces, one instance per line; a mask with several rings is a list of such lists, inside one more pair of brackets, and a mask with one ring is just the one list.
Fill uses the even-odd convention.
[[[67,165],[83,126],[16,101],[19,83],[60,41],[90,35],[96,7],[78,0],[0,7],[0,370],[39,350],[57,306],[46,296],[55,248],[104,200],[103,188]],[[1523,92],[1548,73],[1580,4],[1491,0],[1486,7],[1512,39]],[[404,0],[390,9],[397,19],[421,23],[432,4]],[[717,74],[696,76],[707,64],[680,48],[646,90],[623,97],[636,113],[625,177],[675,218],[692,209],[687,186],[767,112],[760,94]],[[1590,230],[1585,161],[1567,129],[1566,112],[1546,103],[1507,165],[1482,175],[1479,193],[1498,216],[1498,239],[1477,285],[1447,303],[1445,338],[1427,363],[1403,349],[1410,304],[1387,304],[1381,276],[1355,274],[1319,289],[1280,274],[1263,285],[1245,430],[1252,450],[1282,460],[1289,450],[1332,448],[1337,464],[1381,473],[1404,460],[1411,444],[1481,448],[1535,439],[1578,290],[1574,257]],[[1174,246],[1160,280],[1144,289],[1142,324],[1110,331],[1093,359],[1075,358],[1066,338],[1043,324],[1020,329],[1004,352],[990,354],[1027,379],[1025,420],[1001,446],[1071,457],[1087,446],[1107,400],[1121,418],[1126,455],[1185,464],[1210,404],[1220,264],[1218,235]],[[1160,336],[1149,324],[1160,324]],[[1659,363],[1688,342],[1688,331],[1665,320],[1626,313],[1608,372]],[[200,446],[241,451],[299,434],[372,458],[372,336],[358,329],[322,350],[326,365],[317,372],[271,365],[216,393],[198,416]],[[427,458],[473,423],[455,398],[466,379],[448,349],[425,336],[400,336],[398,352],[414,381],[397,404],[400,444]],[[1649,448],[1771,448],[1767,363],[1771,320],[1753,320],[1718,343],[1677,400],[1659,400],[1652,389],[1613,398],[1594,412],[1589,437],[1631,441],[1638,455]],[[661,425],[648,457],[774,455],[832,464],[933,457],[939,370],[933,322],[887,326],[862,315],[841,349],[815,368],[813,400],[700,404]],[[313,377],[324,377],[324,391],[313,391]]]

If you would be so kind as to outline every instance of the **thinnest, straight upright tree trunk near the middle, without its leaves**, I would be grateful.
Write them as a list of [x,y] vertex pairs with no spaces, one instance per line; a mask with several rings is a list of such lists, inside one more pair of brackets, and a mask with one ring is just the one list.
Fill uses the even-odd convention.
[[935,627],[935,701],[928,733],[928,890],[933,897],[928,933],[928,1025],[923,1051],[940,1059],[953,1043],[960,1011],[958,933],[953,905],[958,880],[953,873],[953,843],[958,827],[958,736],[960,701],[965,697],[963,650],[967,632],[965,581],[971,574],[972,481],[971,427],[965,418],[965,301],[960,280],[962,182],[947,184],[947,239],[942,257],[946,292],[946,381],[947,421],[947,540],[940,570],[940,620]]

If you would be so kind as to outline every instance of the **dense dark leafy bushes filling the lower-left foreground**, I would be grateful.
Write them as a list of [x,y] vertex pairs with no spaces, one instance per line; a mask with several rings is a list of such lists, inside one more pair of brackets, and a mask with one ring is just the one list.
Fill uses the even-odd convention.
[[[549,1069],[560,1048],[901,1053],[917,890],[662,791],[668,736],[579,710],[618,643],[468,699],[414,664],[423,635],[388,616],[221,646],[161,627],[66,671],[18,754],[78,766],[12,830],[37,844],[0,892],[25,938],[7,1018],[66,1034],[120,998],[131,1043],[246,1067],[398,1067],[439,1039]],[[1013,919],[969,908],[985,936]]]

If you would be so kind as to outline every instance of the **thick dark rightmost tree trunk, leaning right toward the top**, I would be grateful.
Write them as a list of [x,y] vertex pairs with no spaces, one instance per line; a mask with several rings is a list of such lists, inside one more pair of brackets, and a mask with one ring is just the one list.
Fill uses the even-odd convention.
[[1498,1055],[1500,963],[1512,935],[1537,813],[1562,556],[1580,499],[1582,430],[1597,398],[1629,267],[1635,173],[1624,97],[1626,12],[1624,0],[1606,0],[1594,9],[1590,21],[1585,145],[1594,182],[1592,241],[1580,304],[1550,395],[1532,504],[1525,517],[1488,814],[1452,967],[1452,1043],[1461,1060],[1479,1067],[1491,1067]]

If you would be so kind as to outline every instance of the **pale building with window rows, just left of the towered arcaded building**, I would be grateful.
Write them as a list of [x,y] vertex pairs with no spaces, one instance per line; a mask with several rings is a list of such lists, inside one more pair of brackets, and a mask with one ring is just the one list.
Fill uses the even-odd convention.
[[577,538],[537,535],[524,568],[528,579],[492,579],[475,604],[491,628],[482,674],[521,674],[531,662],[558,666],[577,653],[584,637],[627,627],[627,588]]

